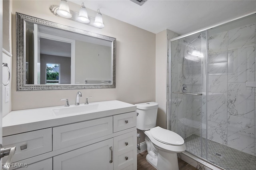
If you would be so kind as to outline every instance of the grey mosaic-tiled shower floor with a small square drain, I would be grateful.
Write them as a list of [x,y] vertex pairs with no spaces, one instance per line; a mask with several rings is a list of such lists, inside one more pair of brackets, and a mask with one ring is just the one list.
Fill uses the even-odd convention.
[[[206,158],[206,138],[192,134],[184,139],[186,151]],[[226,170],[255,170],[256,156],[241,152],[226,145],[207,140],[208,142],[208,161],[226,169]],[[202,156],[201,156],[202,154]]]

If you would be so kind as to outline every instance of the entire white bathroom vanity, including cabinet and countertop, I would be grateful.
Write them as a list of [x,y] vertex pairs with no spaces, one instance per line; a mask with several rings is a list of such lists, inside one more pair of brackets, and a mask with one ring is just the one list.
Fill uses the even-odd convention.
[[12,162],[28,165],[19,170],[136,170],[136,116],[121,101],[12,111],[3,145],[16,146]]

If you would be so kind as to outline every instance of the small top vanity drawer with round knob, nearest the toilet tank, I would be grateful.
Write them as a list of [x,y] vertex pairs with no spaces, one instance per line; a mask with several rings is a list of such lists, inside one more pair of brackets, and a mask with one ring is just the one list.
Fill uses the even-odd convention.
[[137,112],[124,113],[113,116],[113,132],[136,127]]

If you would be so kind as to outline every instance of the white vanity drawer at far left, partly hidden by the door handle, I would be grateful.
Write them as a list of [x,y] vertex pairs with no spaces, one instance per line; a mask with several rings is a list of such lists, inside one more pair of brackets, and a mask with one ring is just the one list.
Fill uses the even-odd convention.
[[[3,137],[5,148],[16,146],[12,162],[17,162],[52,151],[52,128],[35,130],[26,133]],[[6,162],[7,156],[2,162]]]

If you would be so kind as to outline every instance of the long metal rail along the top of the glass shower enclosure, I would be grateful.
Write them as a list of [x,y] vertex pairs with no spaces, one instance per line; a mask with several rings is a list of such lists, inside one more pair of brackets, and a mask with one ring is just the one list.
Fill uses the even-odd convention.
[[209,27],[206,27],[206,28],[202,28],[202,29],[200,29],[200,30],[196,30],[196,31],[194,31],[194,32],[190,32],[190,33],[188,33],[188,34],[184,34],[184,35],[182,35],[182,36],[178,36],[178,37],[176,37],[176,38],[172,38],[170,41],[173,42],[173,41],[175,41],[175,40],[179,40],[179,39],[181,39],[181,38],[184,38],[184,37],[187,37],[187,36],[191,36],[191,35],[196,34],[196,33],[198,33],[198,32],[202,32],[202,31],[209,30],[209,29],[211,29],[211,28],[214,28],[214,27],[217,27],[217,26],[226,24],[226,23],[228,23],[228,22],[232,22],[232,21],[234,21],[234,20],[238,20],[238,19],[240,19],[240,18],[249,16],[249,15],[252,15],[252,14],[255,14],[255,13],[256,13],[256,10],[254,10],[253,12],[248,12],[248,13],[242,15],[242,16],[233,18],[233,19],[231,19],[231,20],[226,20],[226,21],[221,22],[221,23],[219,23],[219,24],[215,24],[215,25],[212,25],[212,26],[209,26]]

